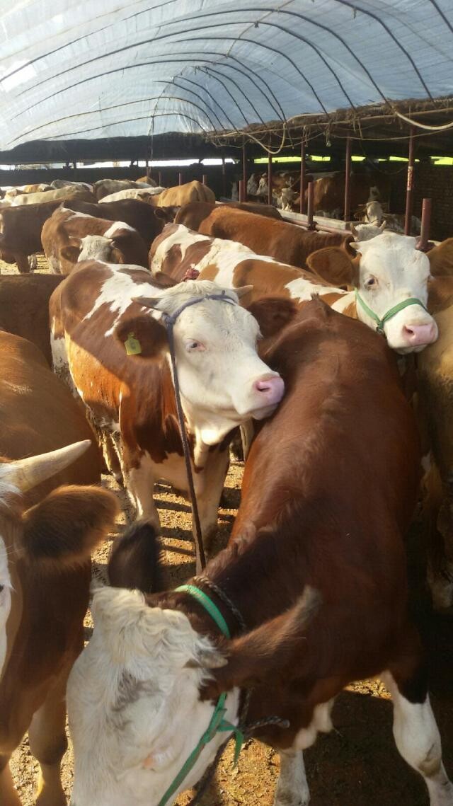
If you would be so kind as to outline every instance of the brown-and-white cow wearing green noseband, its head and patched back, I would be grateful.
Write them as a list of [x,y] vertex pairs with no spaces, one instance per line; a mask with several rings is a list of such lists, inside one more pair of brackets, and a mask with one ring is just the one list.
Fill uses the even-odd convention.
[[[265,296],[285,296],[305,305],[318,293],[335,310],[382,331],[389,347],[401,354],[419,352],[434,342],[438,328],[426,311],[430,266],[426,255],[416,250],[415,239],[384,232],[355,243],[355,249],[354,260],[342,247],[314,251],[307,256],[307,272],[256,255],[242,243],[206,238],[181,224],[168,224],[152,244],[149,265],[156,277],[163,272],[182,280],[185,272],[196,271],[200,279],[225,288],[251,285],[242,300],[246,307]],[[345,292],[341,285],[353,290]],[[409,299],[416,302],[405,305]],[[396,305],[401,310],[393,311]]]

